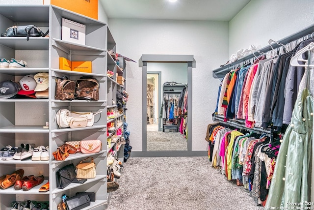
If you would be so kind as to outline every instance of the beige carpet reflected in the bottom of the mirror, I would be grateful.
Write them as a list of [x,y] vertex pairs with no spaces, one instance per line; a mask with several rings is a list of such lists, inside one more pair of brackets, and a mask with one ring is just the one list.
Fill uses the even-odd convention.
[[180,132],[147,131],[147,151],[187,150]]

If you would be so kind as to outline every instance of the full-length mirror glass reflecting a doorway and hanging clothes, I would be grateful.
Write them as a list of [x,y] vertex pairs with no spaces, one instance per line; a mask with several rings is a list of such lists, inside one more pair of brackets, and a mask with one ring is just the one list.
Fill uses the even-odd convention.
[[187,63],[147,63],[147,151],[187,150]]

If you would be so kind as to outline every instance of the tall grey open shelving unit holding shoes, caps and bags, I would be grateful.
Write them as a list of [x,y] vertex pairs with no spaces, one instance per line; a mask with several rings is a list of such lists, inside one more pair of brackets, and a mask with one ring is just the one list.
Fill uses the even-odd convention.
[[[86,26],[86,44],[80,45],[62,40],[62,18],[73,20]],[[77,13],[52,5],[1,5],[0,6],[0,32],[13,25],[38,26],[43,31],[50,30],[49,37],[0,37],[0,57],[25,60],[27,68],[0,69],[0,81],[13,80],[18,82],[23,76],[38,72],[49,73],[48,99],[0,99],[0,149],[23,144],[49,146],[49,161],[9,160],[0,161],[0,176],[13,173],[18,169],[25,171],[24,176],[45,177],[45,184],[50,182],[48,192],[39,192],[41,185],[28,191],[14,190],[14,187],[0,190],[0,209],[11,209],[13,201],[49,201],[50,209],[55,210],[61,202],[63,194],[69,197],[77,192],[95,192],[96,201],[91,202],[84,210],[103,210],[107,205],[106,193],[106,110],[112,106],[117,85],[106,76],[106,67],[114,66],[115,61],[110,60],[107,47],[112,36],[108,34],[107,25],[98,20],[79,15]],[[108,40],[108,41],[107,41]],[[108,48],[109,49],[109,48]],[[72,61],[92,61],[92,73],[67,71],[59,69],[59,57]],[[114,68],[114,67],[113,67]],[[86,100],[55,100],[55,79],[66,76],[70,80],[77,80],[81,76],[93,76],[100,83],[100,98],[98,101]],[[107,81],[108,80],[108,81]],[[110,85],[108,85],[110,84]],[[107,90],[111,88],[110,91]],[[84,128],[58,128],[55,115],[59,109],[70,111],[98,112],[102,111],[91,127]],[[99,115],[98,115],[99,116]],[[46,122],[48,128],[44,128]],[[65,161],[55,161],[52,152],[65,141],[93,140],[102,141],[103,149],[99,153],[70,155]],[[64,189],[56,188],[55,173],[63,166],[78,162],[92,156],[96,163],[95,179],[88,179],[83,184],[71,183]]]

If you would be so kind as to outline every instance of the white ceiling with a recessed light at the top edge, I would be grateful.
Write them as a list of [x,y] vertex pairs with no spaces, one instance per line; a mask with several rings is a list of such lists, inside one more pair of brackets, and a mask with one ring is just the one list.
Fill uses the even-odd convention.
[[250,0],[100,0],[108,18],[230,21]]

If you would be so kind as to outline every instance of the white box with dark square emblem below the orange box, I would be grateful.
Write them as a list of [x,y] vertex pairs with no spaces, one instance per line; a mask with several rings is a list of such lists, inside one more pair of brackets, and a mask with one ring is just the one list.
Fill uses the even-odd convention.
[[85,45],[85,33],[85,25],[62,18],[62,40]]

